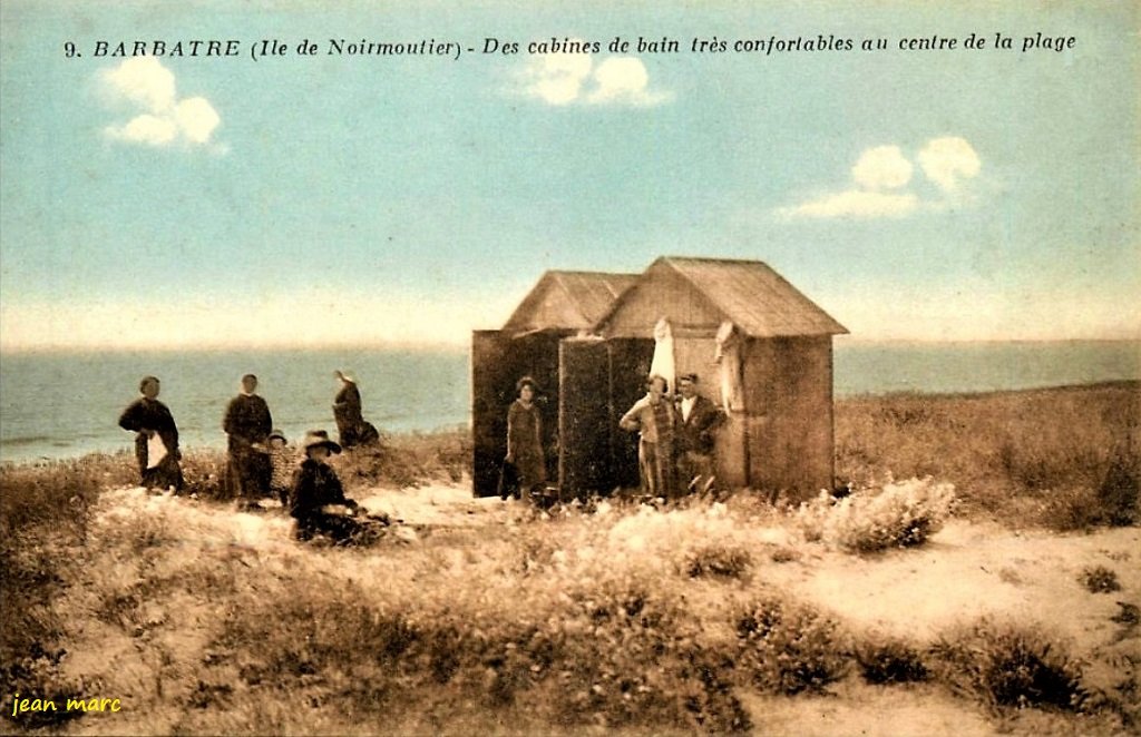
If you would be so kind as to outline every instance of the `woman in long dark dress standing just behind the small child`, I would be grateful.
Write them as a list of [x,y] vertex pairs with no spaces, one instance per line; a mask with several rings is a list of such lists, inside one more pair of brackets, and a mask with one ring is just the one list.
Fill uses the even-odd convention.
[[229,436],[226,486],[232,496],[246,504],[253,504],[269,493],[272,473],[266,443],[274,423],[269,405],[254,394],[257,389],[257,376],[242,376],[242,392],[230,399],[221,423]]

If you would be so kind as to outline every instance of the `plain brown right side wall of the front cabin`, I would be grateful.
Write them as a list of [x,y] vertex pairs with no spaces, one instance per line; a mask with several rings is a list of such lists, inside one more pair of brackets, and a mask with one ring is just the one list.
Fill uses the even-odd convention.
[[832,338],[750,339],[743,358],[750,486],[831,489]]

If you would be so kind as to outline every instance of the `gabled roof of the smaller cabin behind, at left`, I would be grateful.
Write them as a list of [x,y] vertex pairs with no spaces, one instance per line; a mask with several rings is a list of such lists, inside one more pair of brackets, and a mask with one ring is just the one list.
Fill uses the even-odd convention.
[[590,330],[637,280],[637,274],[547,272],[516,307],[503,330],[513,333]]

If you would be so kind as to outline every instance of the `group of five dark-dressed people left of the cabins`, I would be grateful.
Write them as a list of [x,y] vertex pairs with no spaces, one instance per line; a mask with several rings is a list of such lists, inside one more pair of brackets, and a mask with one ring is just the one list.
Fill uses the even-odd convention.
[[[259,500],[276,497],[296,520],[300,540],[327,535],[347,542],[367,533],[370,521],[362,508],[345,496],[329,459],[343,448],[374,445],[380,434],[366,422],[361,410],[356,382],[335,372],[341,388],[333,400],[340,443],[325,430],[310,430],[300,444],[302,456],[290,448],[285,435],[273,427],[269,405],[257,394],[258,378],[245,374],[241,392],[230,399],[222,416],[227,436],[227,463],[224,486],[244,509],[259,508]],[[135,456],[143,486],[173,491],[184,487],[178,427],[170,410],[159,400],[161,382],[145,376],[139,382],[139,398],[119,418],[119,427],[135,432]]]

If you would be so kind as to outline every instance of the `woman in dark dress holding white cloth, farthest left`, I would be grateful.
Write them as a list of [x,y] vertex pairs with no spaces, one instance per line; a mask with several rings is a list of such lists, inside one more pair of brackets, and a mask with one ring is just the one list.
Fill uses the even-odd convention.
[[178,427],[167,405],[159,402],[159,379],[144,376],[139,382],[143,396],[132,402],[119,418],[119,427],[136,432],[135,457],[139,476],[147,488],[183,488],[183,457],[178,450]]

